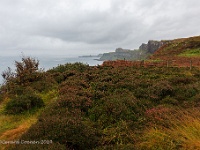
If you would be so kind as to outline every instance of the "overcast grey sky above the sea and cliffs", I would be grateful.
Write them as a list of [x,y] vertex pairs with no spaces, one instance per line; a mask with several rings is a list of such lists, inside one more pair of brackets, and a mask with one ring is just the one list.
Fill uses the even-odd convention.
[[83,55],[200,35],[200,0],[0,0],[3,55]]

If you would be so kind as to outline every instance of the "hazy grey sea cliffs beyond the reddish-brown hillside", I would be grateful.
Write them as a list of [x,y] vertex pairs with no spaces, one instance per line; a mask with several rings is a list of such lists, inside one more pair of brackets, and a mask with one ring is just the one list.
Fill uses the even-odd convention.
[[139,49],[130,50],[117,48],[115,52],[104,53],[100,60],[141,60],[146,59],[153,54],[157,49],[165,44],[164,41],[148,41],[147,44],[142,44]]

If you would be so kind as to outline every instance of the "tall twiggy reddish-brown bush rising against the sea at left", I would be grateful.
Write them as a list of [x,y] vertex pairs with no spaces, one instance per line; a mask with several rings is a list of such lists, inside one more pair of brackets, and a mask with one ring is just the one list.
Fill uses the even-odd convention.
[[31,57],[23,57],[21,62],[15,61],[15,71],[10,68],[2,73],[5,79],[4,91],[10,95],[21,95],[24,89],[42,92],[55,87],[56,81],[51,74],[39,69],[39,61]]

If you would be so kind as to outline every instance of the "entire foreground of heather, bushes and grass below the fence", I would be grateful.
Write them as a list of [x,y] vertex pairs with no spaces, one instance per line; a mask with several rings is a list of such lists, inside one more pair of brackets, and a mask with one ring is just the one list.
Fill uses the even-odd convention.
[[200,149],[198,67],[38,65],[2,73],[1,149]]

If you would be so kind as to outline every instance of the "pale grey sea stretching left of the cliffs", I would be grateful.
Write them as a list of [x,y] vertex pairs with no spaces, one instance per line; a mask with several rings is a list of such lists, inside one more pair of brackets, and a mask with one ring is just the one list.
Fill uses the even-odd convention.
[[[26,57],[26,56],[25,56]],[[81,62],[83,64],[88,64],[89,66],[98,66],[103,63],[99,61],[98,56],[30,56],[39,61],[39,68],[45,71],[57,67],[58,65],[64,65],[66,63]],[[22,56],[0,56],[0,84],[3,84],[3,78],[1,76],[2,72],[7,70],[8,67],[15,71],[15,61],[21,62]]]

